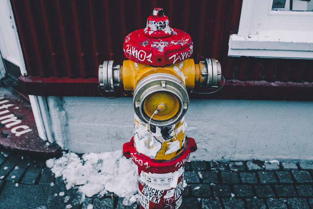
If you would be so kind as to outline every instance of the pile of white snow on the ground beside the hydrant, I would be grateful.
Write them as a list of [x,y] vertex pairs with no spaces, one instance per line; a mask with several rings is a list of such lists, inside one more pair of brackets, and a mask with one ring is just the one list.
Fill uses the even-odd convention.
[[104,195],[108,191],[125,197],[123,204],[131,205],[138,198],[137,167],[131,159],[115,152],[89,153],[79,157],[65,153],[59,159],[46,161],[55,177],[63,177],[66,189],[79,186],[85,196]]

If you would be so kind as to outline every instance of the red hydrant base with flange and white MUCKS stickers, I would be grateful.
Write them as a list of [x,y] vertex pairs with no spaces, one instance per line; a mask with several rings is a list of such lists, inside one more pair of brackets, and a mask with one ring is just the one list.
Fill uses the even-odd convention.
[[155,160],[136,152],[133,138],[123,154],[138,166],[139,202],[142,209],[178,209],[182,204],[184,165],[197,150],[193,138],[186,138],[184,150],[171,160]]

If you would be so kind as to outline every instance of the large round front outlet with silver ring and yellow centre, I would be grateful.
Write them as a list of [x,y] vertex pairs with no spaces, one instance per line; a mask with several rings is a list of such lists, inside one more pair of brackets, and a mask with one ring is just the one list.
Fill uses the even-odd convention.
[[[167,73],[156,73],[146,76],[137,84],[133,105],[136,115],[143,122],[155,126],[168,126],[185,115],[189,97],[184,84],[177,77]],[[158,110],[160,105],[162,110]],[[158,113],[152,116],[156,110]]]

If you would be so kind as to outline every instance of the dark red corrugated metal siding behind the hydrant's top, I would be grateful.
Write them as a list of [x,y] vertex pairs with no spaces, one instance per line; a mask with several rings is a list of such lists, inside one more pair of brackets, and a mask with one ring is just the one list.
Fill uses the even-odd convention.
[[122,64],[125,36],[162,7],[171,27],[189,33],[192,58],[216,58],[227,79],[313,81],[313,60],[230,58],[241,0],[12,0],[30,76],[97,76],[104,60]]

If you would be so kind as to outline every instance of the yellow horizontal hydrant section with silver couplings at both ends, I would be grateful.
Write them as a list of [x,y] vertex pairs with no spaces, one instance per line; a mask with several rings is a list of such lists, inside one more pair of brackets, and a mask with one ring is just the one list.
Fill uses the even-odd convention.
[[176,76],[186,89],[193,89],[195,83],[212,89],[221,81],[221,65],[215,59],[206,59],[199,64],[194,64],[193,59],[187,59],[164,67],[144,65],[131,60],[124,60],[123,66],[120,66],[114,65],[111,60],[104,61],[99,66],[99,84],[107,92],[113,92],[115,86],[124,86],[126,91],[134,91],[143,78],[154,73]]

